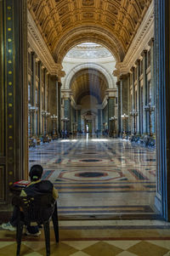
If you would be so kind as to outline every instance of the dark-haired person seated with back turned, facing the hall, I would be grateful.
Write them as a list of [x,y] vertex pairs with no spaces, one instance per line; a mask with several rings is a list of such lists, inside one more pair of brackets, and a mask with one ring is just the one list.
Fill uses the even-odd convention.
[[[41,180],[42,178],[43,169],[41,165],[33,165],[31,167],[29,176],[31,178],[31,183],[26,186],[25,189],[23,189],[20,192],[20,196],[36,196],[41,195],[44,193],[51,193],[54,197],[54,200],[58,197],[58,191],[54,189],[54,185],[49,180]],[[11,219],[8,223],[3,223],[2,228],[4,230],[10,230],[14,231],[16,230],[15,226],[17,225],[17,214],[18,214],[19,208],[17,206],[14,206],[14,211]],[[41,232],[39,231],[39,228],[37,226],[37,223],[33,223],[32,225],[28,225],[26,227],[26,235],[32,235],[32,236],[39,236]]]

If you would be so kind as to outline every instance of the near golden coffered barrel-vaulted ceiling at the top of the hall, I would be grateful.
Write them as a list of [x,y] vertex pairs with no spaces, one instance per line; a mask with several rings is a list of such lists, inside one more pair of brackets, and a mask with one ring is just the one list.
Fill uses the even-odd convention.
[[151,0],[28,0],[28,9],[55,61],[73,46],[94,42],[123,60]]

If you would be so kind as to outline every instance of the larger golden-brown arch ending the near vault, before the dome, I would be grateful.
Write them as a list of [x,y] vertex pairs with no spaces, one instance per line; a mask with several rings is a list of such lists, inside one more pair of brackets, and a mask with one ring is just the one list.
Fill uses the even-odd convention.
[[99,26],[80,26],[68,31],[59,41],[54,43],[54,60],[61,64],[65,54],[71,48],[77,44],[87,42],[103,45],[113,54],[116,62],[122,61],[125,56],[123,45],[114,34]]

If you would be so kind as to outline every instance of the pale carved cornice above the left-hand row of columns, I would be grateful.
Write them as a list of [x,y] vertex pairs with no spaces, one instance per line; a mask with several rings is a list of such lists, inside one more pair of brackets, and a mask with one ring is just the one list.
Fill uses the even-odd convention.
[[42,61],[51,75],[64,77],[65,72],[62,71],[62,65],[54,62],[54,58],[50,53],[46,43],[44,42],[40,31],[38,31],[35,21],[32,19],[31,13],[27,10],[28,17],[28,42],[33,51],[36,52],[38,59]]

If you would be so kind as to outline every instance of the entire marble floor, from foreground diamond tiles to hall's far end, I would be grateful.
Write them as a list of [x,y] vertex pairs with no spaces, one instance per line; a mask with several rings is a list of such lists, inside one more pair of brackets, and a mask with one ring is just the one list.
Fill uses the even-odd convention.
[[[170,224],[154,208],[156,152],[126,140],[58,140],[30,149],[30,166],[59,190],[59,243],[51,255],[170,256]],[[0,227],[0,256],[15,255]],[[44,256],[41,236],[23,236],[20,256]]]

